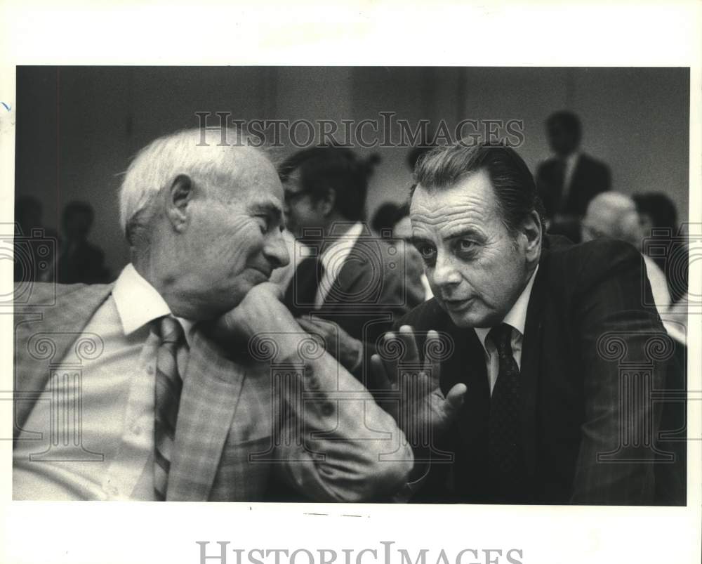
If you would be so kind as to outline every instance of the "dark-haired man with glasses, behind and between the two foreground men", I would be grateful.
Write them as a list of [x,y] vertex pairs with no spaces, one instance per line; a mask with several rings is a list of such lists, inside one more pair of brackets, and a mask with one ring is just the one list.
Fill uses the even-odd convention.
[[287,228],[309,252],[285,303],[305,329],[336,342],[337,358],[357,374],[362,343],[375,343],[421,301],[406,291],[403,253],[363,221],[373,162],[347,148],[314,147],[279,167]]

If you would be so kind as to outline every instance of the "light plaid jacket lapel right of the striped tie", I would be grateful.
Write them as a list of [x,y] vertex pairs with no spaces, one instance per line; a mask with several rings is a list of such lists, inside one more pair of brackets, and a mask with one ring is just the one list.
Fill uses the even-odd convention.
[[240,365],[223,358],[195,332],[183,379],[166,500],[208,500],[244,378]]

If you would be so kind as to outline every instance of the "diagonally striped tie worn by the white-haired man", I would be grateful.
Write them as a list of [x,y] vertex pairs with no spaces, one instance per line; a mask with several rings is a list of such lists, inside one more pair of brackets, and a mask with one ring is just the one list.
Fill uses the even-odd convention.
[[161,339],[156,360],[156,395],[154,405],[154,494],[158,501],[166,499],[168,471],[171,469],[176,419],[183,380],[178,374],[176,353],[183,344],[183,327],[171,316],[152,324]]

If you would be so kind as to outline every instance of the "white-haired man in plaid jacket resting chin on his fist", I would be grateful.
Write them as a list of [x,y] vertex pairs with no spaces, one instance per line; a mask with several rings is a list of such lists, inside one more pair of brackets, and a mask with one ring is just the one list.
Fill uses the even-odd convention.
[[129,166],[114,284],[15,295],[14,499],[363,501],[404,485],[402,431],[268,282],[289,261],[274,166],[220,139],[175,133]]

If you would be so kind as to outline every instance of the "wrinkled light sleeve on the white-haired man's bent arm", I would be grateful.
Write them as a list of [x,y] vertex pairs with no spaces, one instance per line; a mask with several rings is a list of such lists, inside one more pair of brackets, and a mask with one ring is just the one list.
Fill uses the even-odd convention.
[[[413,454],[395,420],[329,354],[305,363],[304,402],[286,398],[291,417],[281,445],[286,480],[316,501],[386,499],[406,483]],[[299,389],[299,388],[298,388]],[[343,395],[343,399],[339,399]],[[301,445],[301,446],[299,446]]]

